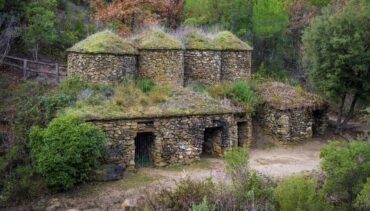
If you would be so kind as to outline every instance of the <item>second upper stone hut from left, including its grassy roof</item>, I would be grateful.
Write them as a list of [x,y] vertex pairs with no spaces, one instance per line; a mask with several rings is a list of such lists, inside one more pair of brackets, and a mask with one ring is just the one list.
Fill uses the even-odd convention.
[[144,31],[133,40],[139,49],[138,78],[183,86],[184,50],[179,40],[159,29]]

